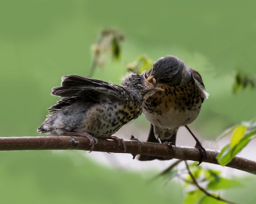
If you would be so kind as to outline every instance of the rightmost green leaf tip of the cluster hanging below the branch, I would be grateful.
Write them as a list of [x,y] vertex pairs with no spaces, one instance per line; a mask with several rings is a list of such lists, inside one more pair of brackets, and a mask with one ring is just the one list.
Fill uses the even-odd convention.
[[234,188],[234,187],[243,187],[243,185],[236,181],[236,180],[230,180],[227,178],[220,178],[219,181],[211,181],[208,186],[207,189],[211,189],[211,190],[219,190],[219,189],[230,189],[230,188]]

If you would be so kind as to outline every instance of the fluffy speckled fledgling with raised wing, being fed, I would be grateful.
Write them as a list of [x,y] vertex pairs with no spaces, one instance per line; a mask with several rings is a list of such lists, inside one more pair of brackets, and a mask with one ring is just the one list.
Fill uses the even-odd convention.
[[53,87],[51,95],[63,98],[48,109],[51,114],[37,132],[50,136],[85,136],[91,150],[97,138],[111,138],[126,149],[122,139],[110,136],[140,116],[143,102],[149,96],[163,91],[146,80],[145,71],[127,74],[121,86],[78,75],[61,79],[61,87]]

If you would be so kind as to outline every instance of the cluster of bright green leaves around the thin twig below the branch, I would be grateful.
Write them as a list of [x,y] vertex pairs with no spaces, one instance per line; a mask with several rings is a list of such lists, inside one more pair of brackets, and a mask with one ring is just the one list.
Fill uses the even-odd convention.
[[[178,162],[176,162],[178,164]],[[187,173],[187,168],[174,168],[175,165],[171,165],[171,168],[167,168],[159,176],[165,178],[165,181],[170,181],[173,178],[178,177],[180,181],[183,181],[184,189],[187,191],[184,204],[203,204],[203,203],[224,203],[221,200],[216,200],[208,195],[214,195],[219,197],[219,194],[226,189],[234,187],[243,187],[243,185],[237,181],[237,178],[224,178],[222,172],[219,170],[213,170],[205,168],[203,166],[197,166],[197,162],[189,164],[189,170],[192,176],[196,179],[197,184],[204,187],[206,192],[199,189],[192,177]]]

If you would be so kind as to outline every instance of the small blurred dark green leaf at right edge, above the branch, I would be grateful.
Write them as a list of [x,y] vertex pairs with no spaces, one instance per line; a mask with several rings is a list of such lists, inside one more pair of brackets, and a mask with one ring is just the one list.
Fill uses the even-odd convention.
[[247,76],[242,74],[240,70],[236,72],[236,81],[233,84],[233,92],[237,93],[239,90],[246,87],[254,88],[256,84],[256,76]]

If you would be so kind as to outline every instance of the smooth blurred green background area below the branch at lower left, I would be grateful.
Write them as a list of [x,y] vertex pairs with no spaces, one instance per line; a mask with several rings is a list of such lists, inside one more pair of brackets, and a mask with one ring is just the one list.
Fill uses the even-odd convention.
[[159,180],[148,184],[136,171],[110,168],[84,154],[0,152],[1,203],[182,203],[176,181],[165,188]]

